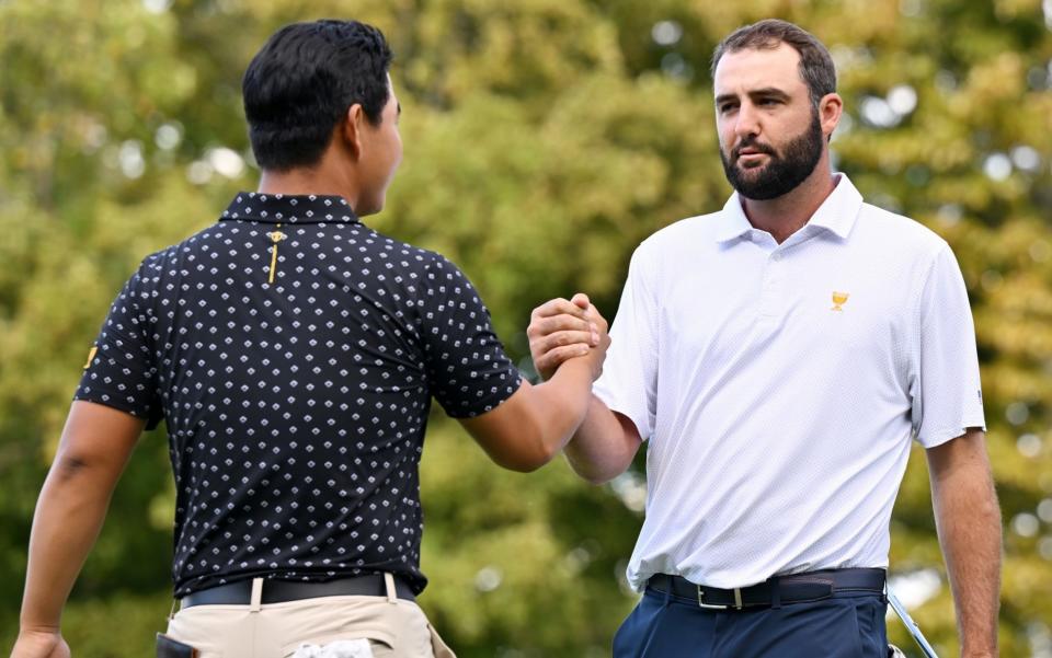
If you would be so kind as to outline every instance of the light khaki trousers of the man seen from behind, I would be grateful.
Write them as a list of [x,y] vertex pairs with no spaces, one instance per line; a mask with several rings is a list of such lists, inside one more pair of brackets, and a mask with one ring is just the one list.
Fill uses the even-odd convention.
[[201,658],[288,658],[301,644],[369,640],[375,658],[456,658],[416,603],[393,596],[320,597],[260,604],[266,581],[253,580],[248,605],[194,605],[175,613],[167,635]]

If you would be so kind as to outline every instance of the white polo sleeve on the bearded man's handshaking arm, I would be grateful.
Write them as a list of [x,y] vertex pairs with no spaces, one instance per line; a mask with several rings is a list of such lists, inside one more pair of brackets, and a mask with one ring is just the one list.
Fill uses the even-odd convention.
[[658,408],[658,304],[650,276],[642,249],[637,249],[610,327],[603,376],[592,389],[611,411],[630,418],[644,440],[654,431]]

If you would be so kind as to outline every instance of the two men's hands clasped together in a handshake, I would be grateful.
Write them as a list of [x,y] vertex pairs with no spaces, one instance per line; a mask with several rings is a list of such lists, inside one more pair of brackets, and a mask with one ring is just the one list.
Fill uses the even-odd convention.
[[610,338],[607,322],[588,301],[588,296],[579,292],[572,299],[553,299],[534,309],[526,330],[529,353],[534,367],[541,379],[548,380],[563,361],[582,356],[582,346],[587,346],[593,379],[603,372],[603,361]]

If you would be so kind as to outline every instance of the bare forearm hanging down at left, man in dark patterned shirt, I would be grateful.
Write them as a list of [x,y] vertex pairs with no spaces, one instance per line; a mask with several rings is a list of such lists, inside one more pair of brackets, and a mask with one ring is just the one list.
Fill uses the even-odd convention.
[[62,607],[94,544],[112,486],[99,490],[89,472],[69,472],[56,460],[37,500],[21,625],[58,628]]

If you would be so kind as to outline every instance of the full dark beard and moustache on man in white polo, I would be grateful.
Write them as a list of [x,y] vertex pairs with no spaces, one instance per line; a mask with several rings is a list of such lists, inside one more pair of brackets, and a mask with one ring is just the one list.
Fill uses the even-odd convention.
[[[767,164],[753,169],[740,168],[737,159],[744,148],[766,153]],[[734,147],[730,157],[720,149],[727,181],[737,194],[756,201],[774,199],[796,189],[814,172],[822,159],[822,124],[817,112],[811,114],[811,125],[803,135],[790,140],[782,151],[778,153],[773,147],[752,138]]]

